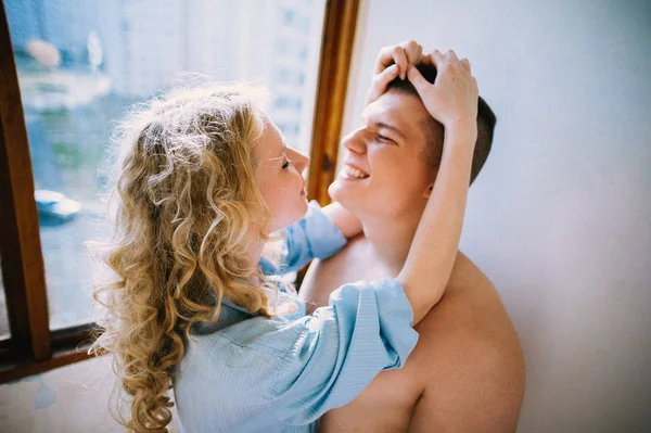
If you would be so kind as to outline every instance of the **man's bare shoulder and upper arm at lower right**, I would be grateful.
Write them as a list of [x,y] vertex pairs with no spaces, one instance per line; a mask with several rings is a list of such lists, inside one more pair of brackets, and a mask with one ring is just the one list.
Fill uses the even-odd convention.
[[443,300],[417,324],[427,366],[410,431],[513,432],[524,396],[518,334],[488,278],[461,255]]

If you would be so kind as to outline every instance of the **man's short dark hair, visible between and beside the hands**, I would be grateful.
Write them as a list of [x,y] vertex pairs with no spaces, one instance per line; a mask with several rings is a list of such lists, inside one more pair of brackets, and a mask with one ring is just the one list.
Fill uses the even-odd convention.
[[[436,67],[433,65],[419,65],[419,72],[427,81],[434,84],[436,79]],[[400,79],[399,77],[391,81],[386,88],[386,90],[396,90],[407,94],[416,95],[420,98],[418,91],[409,81],[409,79]],[[425,135],[430,138],[427,145],[423,151],[423,162],[431,166],[432,168],[438,168],[441,165],[441,157],[443,154],[443,132],[444,128],[435,118],[430,117],[425,127]],[[495,130],[495,124],[497,123],[497,118],[495,117],[495,113],[488,106],[486,101],[482,97],[478,99],[477,103],[477,141],[475,143],[474,153],[472,155],[472,169],[470,175],[470,183],[472,183],[484,163],[488,158],[488,154],[490,153],[490,148],[493,144],[493,132]]]

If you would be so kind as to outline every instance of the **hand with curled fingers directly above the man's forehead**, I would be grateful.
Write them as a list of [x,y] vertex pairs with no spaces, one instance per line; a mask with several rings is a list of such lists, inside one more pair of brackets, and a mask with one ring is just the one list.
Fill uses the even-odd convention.
[[382,48],[375,60],[374,75],[367,93],[366,105],[380,98],[386,90],[386,86],[395,78],[406,79],[409,65],[418,65],[423,61],[431,62],[429,56],[423,58],[423,47],[413,40]]

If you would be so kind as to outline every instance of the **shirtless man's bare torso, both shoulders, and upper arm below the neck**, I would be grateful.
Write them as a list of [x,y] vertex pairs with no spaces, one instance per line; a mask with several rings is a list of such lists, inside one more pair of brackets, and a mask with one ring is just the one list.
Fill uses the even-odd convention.
[[[299,297],[307,313],[357,280],[394,277],[368,240],[315,262]],[[512,432],[524,393],[518,335],[490,281],[459,253],[443,300],[418,323],[404,368],[382,371],[349,404],[321,418],[320,432]]]

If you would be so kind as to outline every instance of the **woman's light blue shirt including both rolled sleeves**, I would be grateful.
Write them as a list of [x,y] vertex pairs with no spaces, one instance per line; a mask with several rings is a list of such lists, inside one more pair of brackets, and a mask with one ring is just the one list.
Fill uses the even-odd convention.
[[[316,202],[286,229],[285,271],[336,253],[346,240]],[[278,273],[269,260],[265,273]],[[290,296],[283,293],[284,296]],[[259,317],[225,298],[216,322],[193,328],[174,377],[188,433],[316,432],[328,410],[352,402],[382,370],[401,368],[418,341],[395,279],[344,284],[329,305]]]

